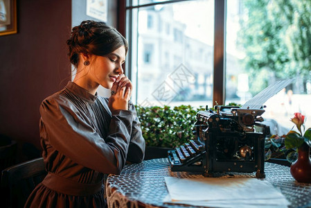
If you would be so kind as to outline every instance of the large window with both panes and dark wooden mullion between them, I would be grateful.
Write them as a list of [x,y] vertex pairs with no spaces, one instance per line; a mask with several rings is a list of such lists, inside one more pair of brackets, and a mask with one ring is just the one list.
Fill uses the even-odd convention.
[[[274,81],[296,78],[265,103],[263,117],[292,128],[301,112],[311,126],[311,1],[127,1],[137,104],[244,104]],[[162,33],[148,28],[149,15]]]

